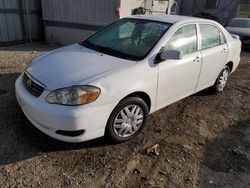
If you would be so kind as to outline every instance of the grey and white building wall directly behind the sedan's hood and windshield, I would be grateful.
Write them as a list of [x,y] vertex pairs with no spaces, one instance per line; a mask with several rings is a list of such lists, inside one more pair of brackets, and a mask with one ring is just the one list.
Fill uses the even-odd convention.
[[177,14],[178,10],[175,0],[42,0],[46,41],[60,45],[83,40],[132,12]]

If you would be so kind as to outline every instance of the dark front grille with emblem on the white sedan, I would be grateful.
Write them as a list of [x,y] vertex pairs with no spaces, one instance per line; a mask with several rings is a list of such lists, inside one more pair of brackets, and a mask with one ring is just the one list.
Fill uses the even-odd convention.
[[43,91],[44,87],[35,82],[27,73],[23,74],[23,83],[25,88],[34,96],[39,97]]

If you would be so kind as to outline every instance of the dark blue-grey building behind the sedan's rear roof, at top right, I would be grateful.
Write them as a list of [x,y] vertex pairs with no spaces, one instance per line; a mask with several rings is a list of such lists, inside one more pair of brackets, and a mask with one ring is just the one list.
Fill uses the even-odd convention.
[[248,17],[249,4],[250,0],[182,0],[180,14],[210,18],[225,25],[234,17]]

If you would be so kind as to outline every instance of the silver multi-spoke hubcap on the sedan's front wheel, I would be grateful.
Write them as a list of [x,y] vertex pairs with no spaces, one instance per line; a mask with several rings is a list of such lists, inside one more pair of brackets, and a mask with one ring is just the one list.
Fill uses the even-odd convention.
[[142,108],[138,105],[129,105],[116,115],[113,130],[117,136],[128,137],[140,129],[143,120],[144,113]]

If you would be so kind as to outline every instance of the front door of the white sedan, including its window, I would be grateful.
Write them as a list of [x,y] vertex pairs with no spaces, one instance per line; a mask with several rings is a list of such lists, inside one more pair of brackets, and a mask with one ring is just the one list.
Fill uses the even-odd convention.
[[183,58],[159,64],[157,109],[195,92],[201,69],[196,24],[181,26],[164,48],[181,51]]

